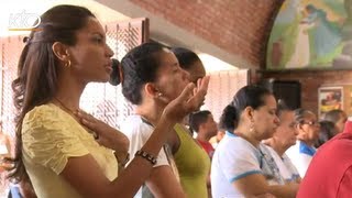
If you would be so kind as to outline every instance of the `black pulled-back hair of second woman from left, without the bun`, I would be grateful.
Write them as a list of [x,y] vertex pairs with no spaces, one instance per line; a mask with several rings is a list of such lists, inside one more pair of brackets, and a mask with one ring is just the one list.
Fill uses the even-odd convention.
[[164,50],[158,43],[144,43],[122,58],[122,94],[133,105],[142,102],[142,86],[155,81],[161,65],[158,55]]

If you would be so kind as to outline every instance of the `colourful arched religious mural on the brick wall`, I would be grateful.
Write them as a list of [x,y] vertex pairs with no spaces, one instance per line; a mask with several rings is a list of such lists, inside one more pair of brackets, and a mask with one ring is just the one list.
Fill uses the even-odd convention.
[[267,69],[352,68],[352,0],[286,0],[267,47]]

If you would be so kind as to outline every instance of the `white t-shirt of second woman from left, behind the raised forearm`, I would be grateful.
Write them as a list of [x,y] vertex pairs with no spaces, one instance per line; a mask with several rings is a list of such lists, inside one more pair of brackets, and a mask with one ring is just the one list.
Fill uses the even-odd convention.
[[[131,156],[134,156],[135,152],[142,148],[145,142],[152,135],[154,128],[150,123],[142,120],[142,117],[133,114],[127,118],[127,120],[121,125],[121,131],[129,138],[130,140],[130,148],[129,153]],[[132,160],[133,157],[131,157]],[[156,164],[154,167],[158,166],[168,166],[167,156],[165,154],[164,148],[157,155]],[[131,161],[130,161],[131,162]],[[129,163],[130,163],[129,162]],[[134,196],[135,198],[142,197],[142,188]]]

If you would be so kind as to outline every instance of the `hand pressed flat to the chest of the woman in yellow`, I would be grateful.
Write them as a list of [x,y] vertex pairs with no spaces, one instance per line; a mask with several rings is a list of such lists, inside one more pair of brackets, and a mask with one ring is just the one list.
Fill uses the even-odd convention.
[[79,110],[77,117],[81,124],[96,133],[96,141],[100,145],[116,151],[119,163],[123,163],[128,158],[130,141],[123,133],[85,111]]

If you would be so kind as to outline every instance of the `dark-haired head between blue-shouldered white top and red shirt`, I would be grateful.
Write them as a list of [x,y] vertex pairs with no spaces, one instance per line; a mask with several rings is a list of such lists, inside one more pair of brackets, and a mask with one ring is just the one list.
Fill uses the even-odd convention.
[[323,121],[320,121],[319,123],[320,123],[319,139],[315,143],[315,147],[317,148],[338,134],[336,124],[333,122],[323,120]]

